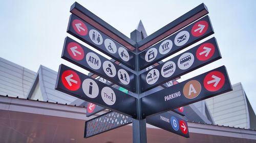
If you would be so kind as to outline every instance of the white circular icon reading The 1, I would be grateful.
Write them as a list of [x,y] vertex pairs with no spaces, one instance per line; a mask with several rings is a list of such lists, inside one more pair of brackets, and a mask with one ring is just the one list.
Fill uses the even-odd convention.
[[104,87],[101,90],[101,98],[108,105],[113,105],[116,102],[116,94],[109,87]]

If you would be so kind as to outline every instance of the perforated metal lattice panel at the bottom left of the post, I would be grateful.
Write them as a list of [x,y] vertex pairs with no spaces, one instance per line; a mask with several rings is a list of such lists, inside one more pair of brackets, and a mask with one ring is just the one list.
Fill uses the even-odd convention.
[[132,123],[132,118],[110,111],[86,122],[84,137],[90,137]]

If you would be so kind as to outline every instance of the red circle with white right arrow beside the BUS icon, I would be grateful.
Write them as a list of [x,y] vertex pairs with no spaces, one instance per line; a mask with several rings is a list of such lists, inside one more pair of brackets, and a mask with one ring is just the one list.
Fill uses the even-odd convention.
[[206,61],[214,55],[215,47],[211,43],[204,43],[197,49],[197,59],[200,61]]

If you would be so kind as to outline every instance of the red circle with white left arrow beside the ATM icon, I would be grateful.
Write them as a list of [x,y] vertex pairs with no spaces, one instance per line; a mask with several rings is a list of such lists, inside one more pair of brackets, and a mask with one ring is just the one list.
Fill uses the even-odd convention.
[[76,42],[70,42],[68,44],[68,53],[73,59],[77,61],[82,60],[84,57],[84,52],[82,47]]

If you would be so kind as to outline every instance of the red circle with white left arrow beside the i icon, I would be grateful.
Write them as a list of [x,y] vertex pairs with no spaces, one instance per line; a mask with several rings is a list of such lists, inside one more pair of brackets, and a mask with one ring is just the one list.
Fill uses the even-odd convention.
[[78,74],[72,70],[63,72],[61,75],[61,81],[68,90],[76,91],[80,88],[80,78]]

